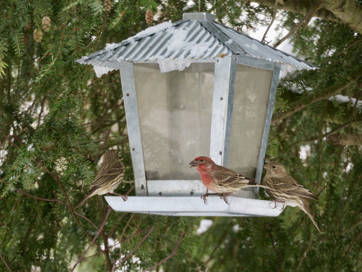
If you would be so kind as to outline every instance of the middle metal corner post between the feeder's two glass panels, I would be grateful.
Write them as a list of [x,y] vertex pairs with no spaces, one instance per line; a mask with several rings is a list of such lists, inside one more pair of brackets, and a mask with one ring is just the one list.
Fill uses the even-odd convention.
[[229,156],[235,73],[236,56],[215,58],[210,157],[222,166]]

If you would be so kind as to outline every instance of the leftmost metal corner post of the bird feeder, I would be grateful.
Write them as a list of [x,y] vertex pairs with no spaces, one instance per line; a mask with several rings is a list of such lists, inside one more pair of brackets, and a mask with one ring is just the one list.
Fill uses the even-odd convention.
[[147,196],[147,182],[146,173],[144,171],[133,63],[121,61],[119,63],[119,72],[121,74],[123,101],[125,103],[136,194],[137,196]]

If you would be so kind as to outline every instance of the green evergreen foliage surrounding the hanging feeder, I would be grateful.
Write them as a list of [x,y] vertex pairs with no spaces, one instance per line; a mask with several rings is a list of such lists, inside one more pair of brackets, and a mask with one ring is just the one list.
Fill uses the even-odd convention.
[[[0,271],[8,270],[5,262],[12,271],[70,270],[108,207],[94,197],[80,217],[69,206],[88,190],[106,149],[122,151],[125,180],[133,180],[119,73],[97,78],[92,67],[75,60],[147,28],[146,9],[161,13],[152,24],[176,21],[187,2],[112,1],[107,12],[98,0],[0,1]],[[239,31],[257,31],[274,13],[249,1],[202,1],[201,10]],[[36,43],[33,32],[42,29],[44,16],[51,29]],[[281,32],[303,15],[279,10],[276,17]],[[201,218],[111,212],[92,247],[96,255],[79,271],[110,271],[113,259],[128,255],[152,226],[134,258],[120,267],[151,267],[172,253],[185,231],[163,271],[361,271],[361,147],[335,147],[328,140],[335,132],[361,134],[360,108],[316,100],[336,84],[348,86],[340,94],[361,98],[362,37],[344,24],[315,19],[291,40],[299,56],[320,69],[282,79],[275,112],[287,112],[293,102],[306,107],[272,126],[266,159],[285,164],[320,199],[310,206],[323,234],[291,207],[277,218],[208,218],[214,223],[201,235],[195,234]],[[305,91],[296,94],[292,86]],[[121,247],[103,252],[108,238],[122,241]]]

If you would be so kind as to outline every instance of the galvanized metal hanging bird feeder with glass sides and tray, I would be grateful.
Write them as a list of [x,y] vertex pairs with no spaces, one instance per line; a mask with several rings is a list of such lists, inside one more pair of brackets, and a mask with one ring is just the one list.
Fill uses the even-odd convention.
[[207,193],[189,168],[211,157],[260,182],[281,65],[316,69],[214,21],[185,13],[82,57],[98,77],[121,74],[136,197],[106,197],[117,211],[161,215],[277,216],[258,188],[227,197]]

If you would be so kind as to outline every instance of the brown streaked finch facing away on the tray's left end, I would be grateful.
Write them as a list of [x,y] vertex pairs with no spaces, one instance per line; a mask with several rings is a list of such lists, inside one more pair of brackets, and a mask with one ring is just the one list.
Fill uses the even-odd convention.
[[[99,169],[92,185],[90,186],[89,192],[83,200],[76,206],[75,209],[81,207],[88,198],[93,195],[104,195],[107,193],[113,193],[119,184],[121,184],[125,176],[125,165],[119,161],[118,151],[114,149],[107,150],[104,153],[101,168]],[[127,200],[125,195],[119,195],[124,201]]]

